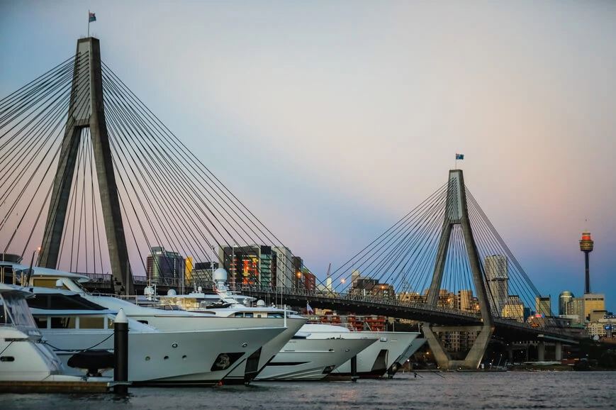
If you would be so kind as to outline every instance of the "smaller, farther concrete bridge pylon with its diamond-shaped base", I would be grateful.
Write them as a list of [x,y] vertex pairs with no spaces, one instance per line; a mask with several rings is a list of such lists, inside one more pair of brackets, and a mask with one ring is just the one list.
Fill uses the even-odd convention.
[[[437,306],[438,304],[439,290],[441,288],[445,262],[447,260],[447,250],[449,249],[449,241],[454,225],[461,226],[461,232],[464,236],[466,255],[469,257],[469,266],[477,293],[482,323],[480,326],[447,327],[437,327],[432,323],[424,323],[423,331],[430,345],[430,349],[435,355],[435,360],[441,369],[476,369],[481,363],[481,359],[488,348],[488,343],[494,331],[494,321],[490,304],[488,303],[486,283],[483,281],[481,261],[473,237],[471,222],[469,220],[469,211],[466,205],[466,191],[464,187],[464,173],[462,170],[449,171],[444,221],[441,228],[432,283],[430,284],[430,289],[427,294],[427,304],[431,306]],[[478,336],[464,360],[452,360],[449,352],[447,352],[439,338],[435,335],[435,332],[441,331],[478,331]]]

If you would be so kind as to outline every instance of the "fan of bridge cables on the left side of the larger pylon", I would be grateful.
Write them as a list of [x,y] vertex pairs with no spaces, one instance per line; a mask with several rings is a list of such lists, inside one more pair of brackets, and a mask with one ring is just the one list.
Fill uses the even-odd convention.
[[[17,239],[23,248],[12,252],[22,257],[25,255],[42,216],[41,206],[48,203],[52,179],[50,170],[57,162],[62,123],[66,118],[70,98],[70,74],[67,76],[67,67],[76,63],[83,64],[80,59],[71,60],[62,65],[62,71],[50,72],[42,77],[45,84],[40,87],[35,83],[30,84],[30,92],[39,91],[39,94],[35,94],[38,105],[31,101],[30,104],[25,102],[23,106],[13,104],[11,108],[14,115],[7,114],[4,117],[0,128],[0,155],[4,158],[0,182],[5,188],[0,194],[0,238],[4,239],[4,253],[14,248],[13,240]],[[3,101],[5,108],[10,105],[6,104],[6,100]],[[18,128],[16,124],[22,126]],[[44,194],[45,191],[47,194],[43,198],[39,192]],[[23,226],[23,221],[32,220],[34,223],[31,226],[29,222],[27,228]],[[7,230],[12,230],[10,236],[7,236]],[[24,236],[26,233],[27,236]],[[36,240],[35,243],[40,242]]]

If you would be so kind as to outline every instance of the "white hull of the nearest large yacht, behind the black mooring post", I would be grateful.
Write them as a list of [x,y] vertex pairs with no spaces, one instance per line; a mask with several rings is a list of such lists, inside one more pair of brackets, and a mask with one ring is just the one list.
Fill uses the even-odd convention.
[[[41,329],[65,364],[77,350],[113,350],[112,330]],[[215,384],[284,328],[128,333],[128,378],[133,384]],[[101,341],[103,343],[101,343]],[[85,370],[67,370],[83,375]],[[112,376],[106,370],[103,376]]]

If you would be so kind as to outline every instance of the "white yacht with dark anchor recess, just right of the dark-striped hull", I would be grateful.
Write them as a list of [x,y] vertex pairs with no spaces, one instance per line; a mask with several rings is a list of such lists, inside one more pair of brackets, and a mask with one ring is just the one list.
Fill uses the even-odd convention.
[[[350,331],[343,326],[307,323],[301,331],[310,333],[309,339],[323,338],[376,338],[378,342],[370,345],[357,355],[357,375],[360,378],[376,378],[385,375],[388,368],[397,360],[409,345],[419,336],[417,332],[372,332]],[[330,378],[347,379],[351,377],[350,360],[332,371]]]

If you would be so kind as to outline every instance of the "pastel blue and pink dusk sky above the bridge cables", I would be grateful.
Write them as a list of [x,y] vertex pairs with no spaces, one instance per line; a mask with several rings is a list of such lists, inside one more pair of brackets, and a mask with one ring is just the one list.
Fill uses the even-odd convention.
[[553,307],[588,228],[616,310],[615,2],[0,0],[0,96],[73,55],[88,9],[106,64],[320,277],[459,152]]

